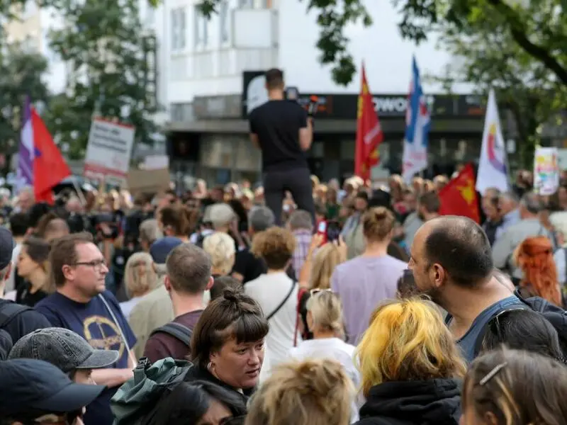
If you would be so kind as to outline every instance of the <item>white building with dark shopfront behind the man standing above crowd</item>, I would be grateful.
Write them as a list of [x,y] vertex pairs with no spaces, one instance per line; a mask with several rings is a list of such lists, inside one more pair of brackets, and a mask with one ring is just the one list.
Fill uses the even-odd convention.
[[[243,81],[243,72],[261,75],[278,67],[288,86],[320,98],[310,150],[312,171],[324,179],[352,173],[360,74],[348,86],[338,86],[330,67],[318,62],[316,11],[307,13],[305,1],[300,0],[225,0],[218,13],[206,20],[196,4],[196,0],[163,0],[158,13],[158,21],[169,29],[160,40],[164,59],[160,81],[167,79],[164,96],[174,166],[210,183],[257,179],[260,155],[249,142],[242,111],[247,101],[243,88],[249,82],[249,78]],[[403,40],[397,27],[400,16],[390,1],[366,0],[366,7],[374,24],[350,26],[346,35],[357,66],[364,60],[376,95],[386,135],[381,146],[383,165],[395,171],[400,168],[412,55],[422,76],[442,74],[451,58],[435,49],[436,40],[419,47]],[[425,91],[442,93],[427,82]],[[473,96],[430,96],[432,164],[441,158],[435,166],[451,167],[475,156],[483,113],[477,102]],[[376,176],[387,173],[375,171]]]

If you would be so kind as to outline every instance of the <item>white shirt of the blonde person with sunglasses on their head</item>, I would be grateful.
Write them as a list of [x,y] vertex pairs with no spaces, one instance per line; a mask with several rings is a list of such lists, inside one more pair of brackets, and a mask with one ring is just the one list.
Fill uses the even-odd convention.
[[[291,348],[289,356],[303,361],[307,358],[331,358],[342,364],[344,372],[352,380],[357,390],[360,387],[360,374],[354,365],[356,347],[338,338],[311,339]],[[359,420],[359,407],[356,397],[352,400],[351,424]]]

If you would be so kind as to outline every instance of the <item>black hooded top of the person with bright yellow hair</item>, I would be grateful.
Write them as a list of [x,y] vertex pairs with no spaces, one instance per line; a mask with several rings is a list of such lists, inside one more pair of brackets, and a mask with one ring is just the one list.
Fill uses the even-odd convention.
[[458,425],[461,380],[384,382],[371,387],[356,425]]

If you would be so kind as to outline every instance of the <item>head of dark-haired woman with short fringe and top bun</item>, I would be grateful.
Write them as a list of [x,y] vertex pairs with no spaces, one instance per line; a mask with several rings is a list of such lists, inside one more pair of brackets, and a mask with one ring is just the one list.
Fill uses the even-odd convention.
[[203,310],[193,329],[193,367],[186,381],[207,380],[247,399],[259,381],[268,329],[257,302],[226,289]]

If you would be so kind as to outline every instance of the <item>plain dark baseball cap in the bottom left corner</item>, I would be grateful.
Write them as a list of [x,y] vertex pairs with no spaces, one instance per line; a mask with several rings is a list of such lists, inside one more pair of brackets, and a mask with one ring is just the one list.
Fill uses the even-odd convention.
[[46,361],[6,360],[0,367],[0,417],[30,409],[48,413],[76,412],[90,404],[106,387],[74,383]]

